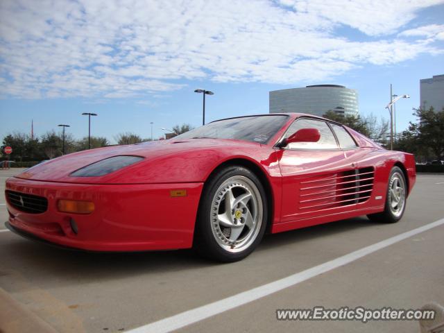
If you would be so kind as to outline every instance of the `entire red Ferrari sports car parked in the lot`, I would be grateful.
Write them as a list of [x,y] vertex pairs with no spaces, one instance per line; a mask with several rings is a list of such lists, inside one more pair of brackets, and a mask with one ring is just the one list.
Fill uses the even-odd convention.
[[82,151],[6,181],[10,230],[97,251],[195,247],[232,262],[264,232],[367,215],[401,219],[413,155],[340,123],[265,114],[173,139]]

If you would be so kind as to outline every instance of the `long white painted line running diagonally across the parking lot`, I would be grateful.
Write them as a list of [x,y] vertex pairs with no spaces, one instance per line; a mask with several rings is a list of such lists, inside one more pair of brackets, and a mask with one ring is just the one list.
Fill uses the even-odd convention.
[[330,262],[325,262],[318,266],[308,268],[305,271],[290,275],[287,278],[264,284],[260,287],[238,293],[237,295],[230,296],[228,298],[224,298],[223,300],[218,300],[216,302],[203,305],[202,307],[196,307],[195,309],[191,309],[180,314],[161,319],[160,321],[155,321],[154,323],[137,327],[133,330],[128,330],[126,332],[166,333],[173,330],[178,330],[179,328],[197,323],[198,321],[203,321],[204,319],[215,316],[216,314],[221,314],[224,311],[234,309],[235,307],[240,307],[241,305],[245,305],[246,303],[253,302],[254,300],[258,300],[259,298],[271,295],[272,293],[276,293],[278,291],[281,291],[282,289],[292,287],[296,284],[299,284],[300,282],[303,282],[310,278],[314,278],[317,275],[332,271],[334,268],[344,266],[346,264],[349,264],[350,262],[355,262],[355,260],[360,259],[361,257],[365,257],[366,255],[370,255],[377,250],[381,250],[382,248],[386,248],[387,246],[391,246],[395,243],[398,243],[399,241],[412,237],[415,234],[425,232],[426,230],[436,228],[439,225],[443,224],[444,219],[422,225],[422,227],[420,228],[403,232],[402,234],[398,234],[397,236],[385,239],[384,241],[379,241],[376,244],[353,251],[352,253],[343,255],[342,257],[330,260]]

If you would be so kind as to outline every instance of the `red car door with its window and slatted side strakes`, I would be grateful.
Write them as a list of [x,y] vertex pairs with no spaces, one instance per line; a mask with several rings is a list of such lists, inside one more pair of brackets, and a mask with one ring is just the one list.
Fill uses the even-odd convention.
[[330,125],[321,119],[296,119],[284,137],[301,128],[318,129],[321,139],[281,148],[281,223],[343,212],[355,203],[356,167],[345,158]]

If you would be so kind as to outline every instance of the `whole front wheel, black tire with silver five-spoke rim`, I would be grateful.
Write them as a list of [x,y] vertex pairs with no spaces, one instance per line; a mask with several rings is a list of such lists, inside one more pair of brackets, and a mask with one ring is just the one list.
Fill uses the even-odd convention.
[[[237,201],[236,206],[230,204]],[[255,173],[241,166],[224,167],[207,180],[203,189],[194,248],[199,255],[219,262],[244,259],[264,237],[267,219],[266,193]]]

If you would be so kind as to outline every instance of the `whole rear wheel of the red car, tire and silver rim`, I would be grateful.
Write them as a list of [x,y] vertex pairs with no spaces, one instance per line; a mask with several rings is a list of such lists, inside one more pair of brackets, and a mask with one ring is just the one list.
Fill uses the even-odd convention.
[[404,214],[406,198],[407,182],[404,178],[404,173],[399,167],[393,167],[388,178],[384,211],[376,214],[368,214],[368,219],[385,223],[400,221]]

